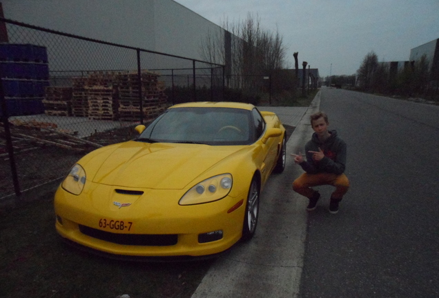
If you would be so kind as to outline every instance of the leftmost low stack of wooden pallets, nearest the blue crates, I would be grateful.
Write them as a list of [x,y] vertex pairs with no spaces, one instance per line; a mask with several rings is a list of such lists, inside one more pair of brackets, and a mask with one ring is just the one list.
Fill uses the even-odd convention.
[[44,112],[50,116],[70,116],[72,104],[72,88],[46,87],[43,99]]

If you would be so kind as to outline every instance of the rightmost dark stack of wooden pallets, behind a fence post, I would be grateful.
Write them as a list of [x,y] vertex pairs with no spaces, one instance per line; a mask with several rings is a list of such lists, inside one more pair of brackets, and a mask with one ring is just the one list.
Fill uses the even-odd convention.
[[142,90],[142,113],[146,120],[157,117],[166,109],[164,83],[159,74],[143,71],[139,84],[137,72],[118,75],[119,120],[137,121],[140,118],[140,91]]

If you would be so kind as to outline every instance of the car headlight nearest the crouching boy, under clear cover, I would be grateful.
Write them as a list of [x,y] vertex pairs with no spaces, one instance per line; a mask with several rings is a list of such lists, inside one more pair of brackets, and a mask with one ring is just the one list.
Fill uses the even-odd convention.
[[180,205],[194,205],[217,201],[228,195],[232,188],[232,175],[222,174],[206,179],[188,190],[180,199]]

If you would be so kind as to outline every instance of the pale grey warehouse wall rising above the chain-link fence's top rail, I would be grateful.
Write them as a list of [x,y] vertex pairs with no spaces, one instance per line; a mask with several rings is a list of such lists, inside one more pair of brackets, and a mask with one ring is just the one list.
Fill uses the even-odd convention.
[[204,60],[222,28],[173,0],[2,0],[6,19],[135,48]]

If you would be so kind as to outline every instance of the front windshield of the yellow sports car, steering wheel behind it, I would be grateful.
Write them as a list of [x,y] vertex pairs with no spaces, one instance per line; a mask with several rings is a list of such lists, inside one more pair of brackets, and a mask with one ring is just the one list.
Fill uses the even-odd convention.
[[150,123],[138,141],[247,145],[252,143],[251,111],[236,108],[171,108]]

